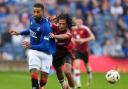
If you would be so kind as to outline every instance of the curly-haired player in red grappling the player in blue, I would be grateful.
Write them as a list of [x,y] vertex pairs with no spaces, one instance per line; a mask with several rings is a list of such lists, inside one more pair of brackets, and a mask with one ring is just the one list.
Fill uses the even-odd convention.
[[63,89],[69,89],[65,86],[64,75],[62,66],[64,66],[64,73],[68,79],[68,84],[71,89],[75,89],[75,82],[72,75],[72,65],[70,60],[72,59],[72,35],[70,29],[72,26],[72,20],[69,15],[61,14],[57,18],[57,25],[52,24],[53,33],[50,34],[51,38],[56,40],[56,53],[53,56],[53,65],[56,70],[58,80]]

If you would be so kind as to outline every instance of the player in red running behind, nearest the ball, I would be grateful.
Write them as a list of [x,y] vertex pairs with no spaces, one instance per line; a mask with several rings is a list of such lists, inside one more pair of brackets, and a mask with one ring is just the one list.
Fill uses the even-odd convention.
[[75,26],[72,27],[71,33],[73,35],[73,43],[75,44],[75,49],[73,49],[73,55],[75,56],[75,68],[74,68],[74,80],[76,81],[77,87],[81,87],[80,83],[80,61],[77,59],[83,59],[87,74],[88,74],[88,82],[90,84],[90,80],[92,79],[92,71],[91,67],[88,64],[88,45],[87,43],[91,40],[94,40],[95,37],[90,29],[83,25],[83,21],[81,18],[75,18],[74,20]]

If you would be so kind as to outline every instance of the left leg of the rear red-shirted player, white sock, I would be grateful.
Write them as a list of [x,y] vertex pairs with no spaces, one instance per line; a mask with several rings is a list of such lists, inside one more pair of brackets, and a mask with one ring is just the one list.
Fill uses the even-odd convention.
[[73,65],[74,65],[73,74],[74,74],[74,80],[75,80],[75,83],[76,83],[76,87],[80,88],[81,87],[81,81],[80,81],[80,59],[75,59]]

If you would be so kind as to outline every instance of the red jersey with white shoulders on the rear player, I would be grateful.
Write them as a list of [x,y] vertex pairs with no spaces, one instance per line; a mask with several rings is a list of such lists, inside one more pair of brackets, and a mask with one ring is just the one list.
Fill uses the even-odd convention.
[[[81,26],[80,28],[78,28],[77,26],[74,26],[71,31],[72,37],[75,39],[87,38],[90,36],[88,30],[89,30],[89,28],[86,26]],[[85,42],[83,44],[78,44],[75,42],[74,45],[75,45],[75,50],[77,50],[79,52],[88,51],[87,42]]]

